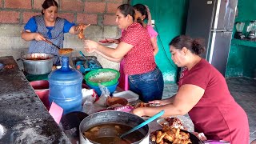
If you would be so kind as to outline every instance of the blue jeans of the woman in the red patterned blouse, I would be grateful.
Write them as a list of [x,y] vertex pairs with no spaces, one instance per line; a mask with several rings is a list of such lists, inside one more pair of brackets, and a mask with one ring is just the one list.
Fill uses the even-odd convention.
[[164,82],[158,66],[148,73],[129,75],[128,78],[130,90],[138,94],[142,102],[162,99]]

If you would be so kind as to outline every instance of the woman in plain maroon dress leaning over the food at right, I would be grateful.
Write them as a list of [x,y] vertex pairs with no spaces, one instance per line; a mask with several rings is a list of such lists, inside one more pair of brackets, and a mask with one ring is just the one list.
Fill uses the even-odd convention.
[[204,47],[198,40],[178,36],[170,42],[171,58],[178,67],[184,67],[178,82],[178,93],[158,103],[159,107],[137,108],[139,116],[152,116],[166,110],[164,117],[189,113],[196,132],[208,139],[231,143],[249,143],[249,125],[246,112],[234,101],[226,80],[199,55]]

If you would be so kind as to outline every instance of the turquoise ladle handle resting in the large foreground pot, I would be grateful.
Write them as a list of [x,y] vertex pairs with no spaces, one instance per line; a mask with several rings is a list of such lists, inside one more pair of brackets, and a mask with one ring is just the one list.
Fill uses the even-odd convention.
[[162,114],[165,114],[165,110],[161,110],[158,114],[154,114],[154,116],[152,116],[151,118],[147,119],[145,122],[142,122],[141,124],[139,124],[138,126],[135,126],[134,128],[130,129],[129,131],[127,131],[125,134],[122,134],[120,136],[120,138],[124,138],[127,134],[130,134],[132,132],[134,132],[135,130],[140,129],[142,126],[145,126],[146,124],[154,121],[156,118],[159,118],[162,116]]

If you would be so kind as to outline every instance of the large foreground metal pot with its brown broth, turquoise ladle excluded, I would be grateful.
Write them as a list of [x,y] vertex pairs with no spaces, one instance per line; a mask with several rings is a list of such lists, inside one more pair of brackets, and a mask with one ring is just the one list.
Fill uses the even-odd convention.
[[119,138],[122,134],[142,122],[145,122],[143,118],[122,111],[106,110],[90,114],[80,123],[80,143],[149,143],[150,132],[148,125],[135,130],[124,138]]

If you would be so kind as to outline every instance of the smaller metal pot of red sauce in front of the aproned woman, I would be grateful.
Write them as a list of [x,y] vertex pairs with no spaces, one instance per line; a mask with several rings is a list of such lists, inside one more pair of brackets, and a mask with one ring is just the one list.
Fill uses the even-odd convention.
[[34,53],[22,56],[24,70],[28,74],[47,74],[52,70],[54,55]]

